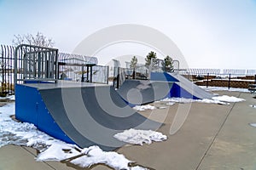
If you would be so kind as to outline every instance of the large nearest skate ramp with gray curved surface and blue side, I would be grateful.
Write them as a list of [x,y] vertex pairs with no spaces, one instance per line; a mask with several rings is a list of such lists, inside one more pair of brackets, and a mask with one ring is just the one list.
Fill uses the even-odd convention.
[[96,144],[103,150],[115,150],[125,144],[113,138],[115,133],[161,126],[131,109],[108,85],[16,84],[15,93],[18,120],[82,148]]

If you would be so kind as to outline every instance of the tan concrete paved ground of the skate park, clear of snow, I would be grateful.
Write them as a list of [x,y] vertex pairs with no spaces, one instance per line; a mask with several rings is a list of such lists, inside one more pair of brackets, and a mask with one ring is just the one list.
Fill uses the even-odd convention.
[[[256,99],[251,94],[217,92],[242,99],[245,102],[231,105],[179,104],[166,109],[142,111],[156,121],[166,123],[159,129],[168,135],[164,142],[154,144],[126,145],[119,150],[128,159],[144,167],[157,170],[203,170],[203,169],[256,169]],[[158,103],[157,106],[161,106]],[[180,130],[170,135],[170,127],[177,110],[189,108],[189,116]],[[167,114],[166,114],[167,113]],[[86,169],[56,161],[35,161],[37,150],[7,145],[0,149],[0,170],[11,169]],[[90,169],[110,169],[98,165]]]

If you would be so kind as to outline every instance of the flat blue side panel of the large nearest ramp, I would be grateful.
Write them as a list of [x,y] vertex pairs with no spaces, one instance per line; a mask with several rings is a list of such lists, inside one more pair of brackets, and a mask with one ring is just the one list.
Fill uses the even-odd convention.
[[21,122],[30,122],[45,133],[74,144],[50,115],[38,88],[15,85],[15,118]]

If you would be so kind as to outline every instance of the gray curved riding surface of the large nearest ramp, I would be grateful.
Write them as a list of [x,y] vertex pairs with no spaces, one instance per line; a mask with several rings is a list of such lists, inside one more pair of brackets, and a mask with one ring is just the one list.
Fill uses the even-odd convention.
[[161,124],[131,109],[110,86],[39,88],[55,122],[80,147],[114,150],[124,143],[113,138],[125,129],[158,129]]

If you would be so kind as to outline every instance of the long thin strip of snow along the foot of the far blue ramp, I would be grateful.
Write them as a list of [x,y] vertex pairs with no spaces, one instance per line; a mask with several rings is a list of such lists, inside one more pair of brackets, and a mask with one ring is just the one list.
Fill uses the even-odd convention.
[[230,105],[229,103],[241,102],[245,101],[245,99],[236,98],[234,96],[216,96],[212,97],[212,99],[185,99],[185,98],[166,98],[161,99],[162,102],[167,102],[166,105],[174,105],[175,103],[192,103],[192,102],[199,102],[199,103],[207,103],[207,104],[220,104],[220,105]]

